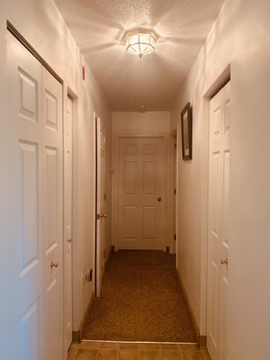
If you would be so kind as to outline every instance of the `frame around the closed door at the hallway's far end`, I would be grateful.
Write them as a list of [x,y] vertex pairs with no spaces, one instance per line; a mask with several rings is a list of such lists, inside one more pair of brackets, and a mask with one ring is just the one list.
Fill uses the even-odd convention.
[[118,206],[118,193],[117,193],[117,186],[116,186],[116,175],[115,175],[115,169],[119,167],[119,161],[117,158],[117,148],[119,144],[120,139],[164,139],[165,140],[165,148],[166,148],[166,184],[164,187],[164,193],[165,193],[165,237],[166,241],[164,244],[164,247],[168,247],[169,244],[169,233],[170,233],[170,227],[169,227],[169,216],[170,216],[170,209],[169,209],[169,193],[170,193],[170,164],[169,164],[169,146],[170,141],[168,141],[168,135],[166,133],[160,133],[160,134],[141,134],[141,133],[116,133],[113,136],[112,139],[112,247],[115,248],[116,245],[116,213],[117,213],[117,206]]

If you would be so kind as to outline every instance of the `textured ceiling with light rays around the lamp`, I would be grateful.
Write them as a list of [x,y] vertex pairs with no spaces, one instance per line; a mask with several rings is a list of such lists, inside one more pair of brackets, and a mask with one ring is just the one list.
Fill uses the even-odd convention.
[[[55,0],[114,111],[170,110],[223,0]],[[125,51],[123,32],[162,38],[143,58]]]

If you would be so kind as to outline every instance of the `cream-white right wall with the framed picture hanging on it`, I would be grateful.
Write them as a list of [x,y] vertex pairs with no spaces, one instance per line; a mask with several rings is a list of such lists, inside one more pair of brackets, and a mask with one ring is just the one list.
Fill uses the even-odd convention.
[[208,102],[203,95],[230,64],[229,360],[266,359],[270,351],[269,14],[268,0],[225,2],[172,112],[173,130],[184,104],[193,105],[193,160],[179,160],[178,256],[205,334]]

